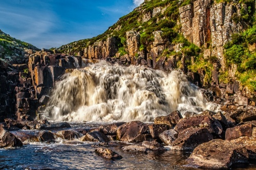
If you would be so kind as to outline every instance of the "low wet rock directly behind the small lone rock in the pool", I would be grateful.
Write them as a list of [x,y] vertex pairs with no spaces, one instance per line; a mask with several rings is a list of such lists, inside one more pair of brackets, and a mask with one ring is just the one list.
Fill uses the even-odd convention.
[[80,141],[93,141],[93,142],[108,142],[110,139],[108,136],[104,135],[101,132],[94,131],[88,132],[86,135],[80,138]]

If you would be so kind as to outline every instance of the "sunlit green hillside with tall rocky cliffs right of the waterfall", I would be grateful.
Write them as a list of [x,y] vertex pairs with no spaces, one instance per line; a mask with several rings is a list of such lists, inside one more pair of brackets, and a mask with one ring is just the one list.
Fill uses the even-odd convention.
[[253,98],[255,37],[254,1],[152,0],[103,34],[57,50],[125,65],[193,71],[199,76],[192,79],[204,87],[238,81],[245,95]]

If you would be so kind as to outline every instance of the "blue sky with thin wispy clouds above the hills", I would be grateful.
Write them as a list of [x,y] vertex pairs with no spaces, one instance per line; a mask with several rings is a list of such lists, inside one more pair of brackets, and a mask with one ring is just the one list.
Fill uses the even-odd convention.
[[143,0],[0,0],[0,30],[38,48],[102,34]]

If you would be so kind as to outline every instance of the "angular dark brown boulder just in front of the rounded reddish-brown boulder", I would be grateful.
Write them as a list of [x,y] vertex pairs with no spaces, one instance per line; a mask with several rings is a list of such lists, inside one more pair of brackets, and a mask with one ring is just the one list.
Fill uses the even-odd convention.
[[199,144],[212,140],[213,137],[207,128],[188,128],[179,133],[172,142],[173,150],[191,150]]

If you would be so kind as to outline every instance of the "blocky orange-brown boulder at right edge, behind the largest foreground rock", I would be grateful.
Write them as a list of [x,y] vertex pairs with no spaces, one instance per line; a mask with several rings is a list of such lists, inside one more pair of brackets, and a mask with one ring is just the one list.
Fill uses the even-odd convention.
[[233,128],[228,128],[226,130],[225,139],[226,140],[233,140],[237,139],[241,136],[252,136],[252,129],[255,127],[253,124],[245,124],[241,126],[236,126]]

